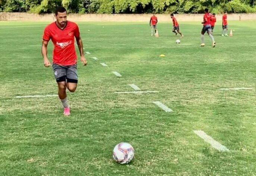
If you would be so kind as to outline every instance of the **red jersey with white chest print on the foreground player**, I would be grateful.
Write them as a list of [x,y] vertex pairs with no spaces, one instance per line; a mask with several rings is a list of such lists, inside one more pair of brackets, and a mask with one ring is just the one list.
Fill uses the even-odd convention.
[[44,29],[42,39],[54,44],[53,63],[58,65],[74,65],[77,62],[75,38],[80,36],[76,23],[67,21],[66,27],[60,29],[57,22],[53,22]]

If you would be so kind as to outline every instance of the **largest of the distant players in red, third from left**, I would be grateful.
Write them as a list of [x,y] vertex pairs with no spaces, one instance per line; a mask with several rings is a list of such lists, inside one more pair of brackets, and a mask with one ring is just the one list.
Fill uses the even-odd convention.
[[212,47],[214,48],[216,45],[216,42],[214,41],[214,37],[212,36],[212,28],[211,28],[211,18],[212,14],[209,13],[209,10],[206,8],[205,9],[205,14],[203,16],[203,29],[201,31],[201,45],[200,46],[205,46],[205,32],[207,31],[209,37],[211,38],[212,41]]

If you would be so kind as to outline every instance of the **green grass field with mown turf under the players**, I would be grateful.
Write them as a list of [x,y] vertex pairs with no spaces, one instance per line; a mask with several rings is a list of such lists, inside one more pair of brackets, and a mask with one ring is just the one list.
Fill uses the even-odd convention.
[[[170,23],[159,22],[159,38],[150,36],[148,22],[78,23],[91,54],[88,66],[78,62],[69,117],[57,97],[16,98],[57,94],[37,46],[47,24],[0,22],[1,176],[256,175],[256,91],[220,90],[256,88],[255,21],[230,21],[233,37],[221,37],[218,23],[216,48],[208,36],[199,47],[200,22],[180,22],[180,44]],[[114,93],[134,91],[128,84],[159,92]],[[193,130],[230,151],[214,149]],[[121,141],[135,148],[127,165],[112,159]]]

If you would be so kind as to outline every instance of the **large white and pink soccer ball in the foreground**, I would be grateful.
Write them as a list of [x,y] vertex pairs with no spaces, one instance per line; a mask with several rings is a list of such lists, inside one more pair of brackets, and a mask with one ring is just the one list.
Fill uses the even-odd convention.
[[131,144],[121,142],[117,144],[113,150],[113,158],[120,164],[128,164],[132,161],[134,149]]

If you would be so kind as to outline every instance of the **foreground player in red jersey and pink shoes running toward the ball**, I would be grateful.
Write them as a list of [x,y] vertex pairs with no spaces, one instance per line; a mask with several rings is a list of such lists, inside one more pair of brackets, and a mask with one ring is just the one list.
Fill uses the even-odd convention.
[[57,7],[55,15],[56,22],[51,23],[44,29],[42,36],[42,56],[44,58],[44,66],[51,66],[47,57],[47,45],[51,40],[54,44],[53,71],[59,87],[59,98],[64,107],[63,114],[70,115],[66,88],[70,92],[75,92],[78,84],[77,55],[74,38],[76,38],[83,65],[87,65],[87,61],[83,55],[83,43],[78,25],[67,21],[67,11],[64,7]]

